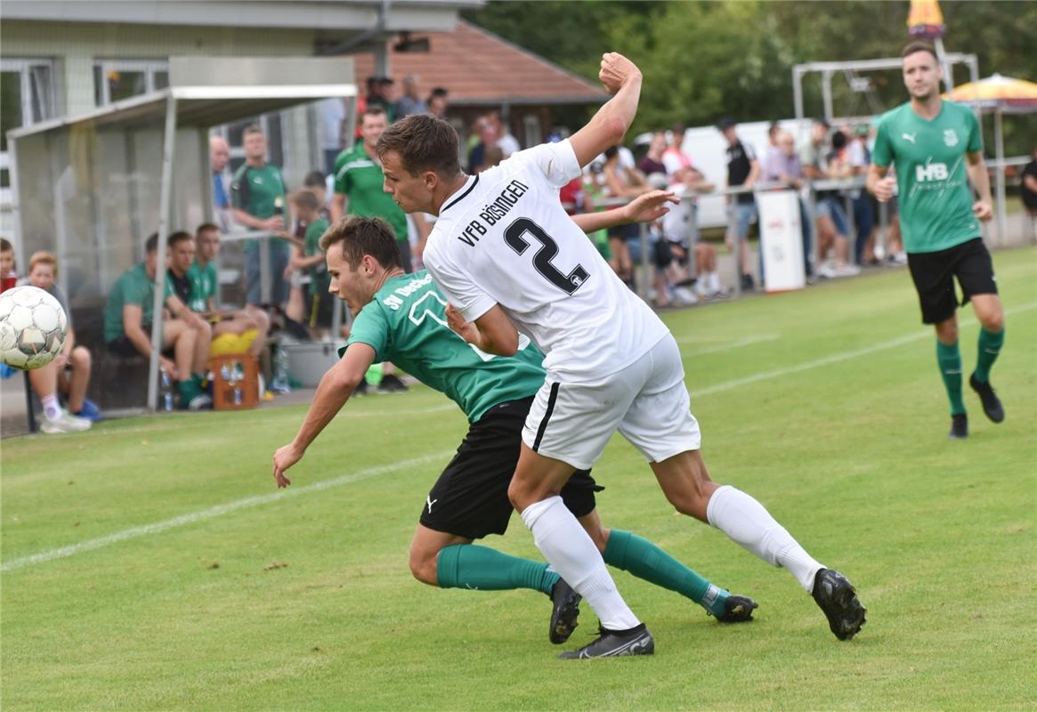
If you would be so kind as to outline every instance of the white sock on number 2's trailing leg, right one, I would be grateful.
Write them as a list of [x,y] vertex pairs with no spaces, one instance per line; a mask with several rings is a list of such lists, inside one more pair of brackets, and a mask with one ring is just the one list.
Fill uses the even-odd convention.
[[[720,487],[706,506],[709,523],[772,566],[782,566],[811,593],[824,568],[804,550],[759,502],[730,485]],[[566,579],[568,580],[568,579]]]

